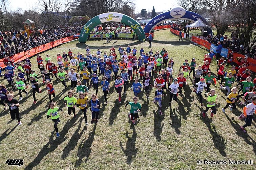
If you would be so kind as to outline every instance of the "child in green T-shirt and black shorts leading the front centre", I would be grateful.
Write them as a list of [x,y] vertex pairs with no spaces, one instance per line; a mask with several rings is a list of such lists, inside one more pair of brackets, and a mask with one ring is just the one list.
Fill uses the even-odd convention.
[[125,107],[127,105],[131,106],[130,113],[128,114],[128,118],[132,121],[133,125],[135,125],[135,121],[137,121],[138,112],[141,112],[141,104],[138,103],[138,98],[136,96],[133,97],[133,102],[127,102]]

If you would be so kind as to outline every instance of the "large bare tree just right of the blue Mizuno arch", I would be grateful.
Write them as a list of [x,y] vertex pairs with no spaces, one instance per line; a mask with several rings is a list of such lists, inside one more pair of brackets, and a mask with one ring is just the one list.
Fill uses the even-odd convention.
[[201,0],[201,4],[209,8],[212,23],[217,34],[224,34],[231,24],[232,10],[241,0]]

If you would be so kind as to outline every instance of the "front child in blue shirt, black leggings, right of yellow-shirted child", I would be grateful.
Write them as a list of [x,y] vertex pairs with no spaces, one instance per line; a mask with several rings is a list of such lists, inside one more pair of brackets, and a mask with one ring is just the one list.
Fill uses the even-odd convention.
[[89,101],[90,111],[91,111],[91,123],[95,121],[98,123],[98,118],[100,114],[100,101],[97,99],[98,96],[96,94],[91,95],[91,100]]

